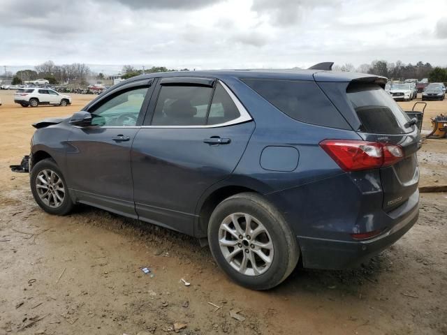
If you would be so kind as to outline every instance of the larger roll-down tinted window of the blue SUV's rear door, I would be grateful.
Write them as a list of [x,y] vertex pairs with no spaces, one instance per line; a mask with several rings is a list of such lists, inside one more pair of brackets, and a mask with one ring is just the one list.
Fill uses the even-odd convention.
[[162,86],[152,125],[204,126],[211,94],[211,87]]

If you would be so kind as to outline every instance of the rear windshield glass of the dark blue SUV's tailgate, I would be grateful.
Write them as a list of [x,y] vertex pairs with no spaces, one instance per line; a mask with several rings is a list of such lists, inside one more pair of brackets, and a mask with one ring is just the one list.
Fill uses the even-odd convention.
[[410,121],[393,98],[377,84],[349,84],[348,100],[356,111],[364,133],[398,135],[410,133]]

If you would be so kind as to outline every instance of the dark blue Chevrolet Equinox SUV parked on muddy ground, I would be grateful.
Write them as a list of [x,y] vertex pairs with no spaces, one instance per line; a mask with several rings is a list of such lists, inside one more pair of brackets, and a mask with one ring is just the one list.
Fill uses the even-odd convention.
[[386,78],[324,70],[133,77],[31,143],[31,191],[198,237],[240,285],[341,269],[418,219],[420,134]]

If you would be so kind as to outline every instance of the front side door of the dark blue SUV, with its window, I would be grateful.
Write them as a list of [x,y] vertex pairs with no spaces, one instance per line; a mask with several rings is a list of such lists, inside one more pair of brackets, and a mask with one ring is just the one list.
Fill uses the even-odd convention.
[[66,165],[79,202],[135,217],[131,144],[152,94],[150,84],[140,80],[105,94],[87,106],[91,126],[73,126]]

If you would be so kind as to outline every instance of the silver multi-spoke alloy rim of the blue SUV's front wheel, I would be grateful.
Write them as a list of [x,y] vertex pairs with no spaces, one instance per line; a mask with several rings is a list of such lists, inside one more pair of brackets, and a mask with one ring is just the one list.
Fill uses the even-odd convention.
[[52,170],[42,170],[36,177],[39,198],[48,207],[57,208],[65,199],[65,188],[61,177]]

